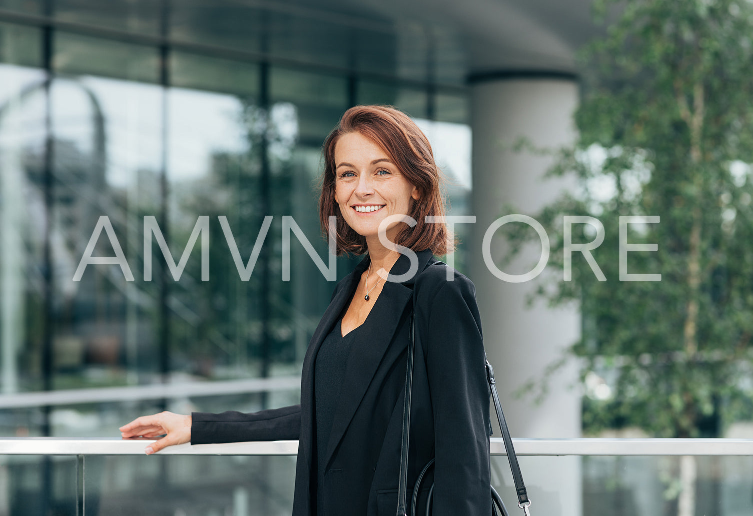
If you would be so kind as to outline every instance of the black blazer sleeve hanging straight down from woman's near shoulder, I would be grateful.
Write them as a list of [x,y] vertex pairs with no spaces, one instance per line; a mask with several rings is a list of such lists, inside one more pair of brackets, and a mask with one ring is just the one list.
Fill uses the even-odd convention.
[[434,412],[434,516],[492,514],[489,384],[470,279],[444,281],[422,328]]

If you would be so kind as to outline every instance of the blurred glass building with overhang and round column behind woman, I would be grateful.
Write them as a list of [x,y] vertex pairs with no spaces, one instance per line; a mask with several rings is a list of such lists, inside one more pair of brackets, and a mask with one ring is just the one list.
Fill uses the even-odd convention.
[[[542,181],[546,157],[508,144],[572,142],[575,50],[599,30],[586,0],[0,0],[0,433],[117,435],[160,410],[297,403],[303,354],[334,283],[295,239],[282,280],[282,216],[326,255],[316,218],[322,142],[347,108],[380,103],[427,133],[450,179],[450,214],[477,217],[456,227],[454,259],[476,284],[513,434],[580,435],[575,366],[547,369],[578,340],[578,307],[528,307],[535,285],[498,279],[482,247],[506,206],[536,212],[568,188]],[[134,281],[117,265],[89,265],[73,281],[103,215]],[[178,263],[200,215],[209,215],[209,281],[201,239],[177,281],[152,246],[145,280],[145,217]],[[266,215],[244,281],[218,217],[245,264]],[[93,255],[114,255],[105,231],[96,242]],[[491,246],[498,256],[505,242]],[[357,261],[339,258],[338,279]],[[526,260],[511,267],[530,270]],[[512,394],[542,375],[553,385],[543,405]],[[127,460],[90,463],[116,493],[103,496],[101,514],[138,513],[148,496],[133,492],[166,487],[175,497],[151,514],[221,514],[222,502],[207,500],[233,496],[263,504],[258,514],[289,511],[294,458],[171,460],[147,472]],[[0,514],[65,514],[63,466],[47,457],[2,468]],[[201,473],[212,483],[198,487]],[[546,475],[560,489],[539,514],[581,514],[579,463]],[[196,499],[185,502],[187,492]]]

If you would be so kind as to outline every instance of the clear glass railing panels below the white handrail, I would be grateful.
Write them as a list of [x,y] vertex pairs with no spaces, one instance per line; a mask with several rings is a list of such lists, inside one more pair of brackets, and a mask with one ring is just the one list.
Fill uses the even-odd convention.
[[[682,457],[519,458],[537,514],[678,514]],[[694,514],[753,512],[751,456],[691,460],[697,469]],[[295,456],[0,456],[0,514],[80,514],[77,492],[86,516],[290,514],[294,470]],[[515,514],[517,496],[505,456],[492,456],[492,485]]]

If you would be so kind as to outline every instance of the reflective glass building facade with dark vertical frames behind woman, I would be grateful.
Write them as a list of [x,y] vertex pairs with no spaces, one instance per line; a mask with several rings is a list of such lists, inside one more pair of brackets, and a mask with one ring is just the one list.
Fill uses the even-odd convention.
[[[452,213],[465,212],[468,97],[462,74],[434,67],[430,32],[229,0],[2,0],[2,435],[117,435],[163,409],[297,403],[303,354],[334,282],[295,236],[283,281],[282,217],[326,263],[321,145],[343,111],[407,111],[451,179]],[[206,218],[208,240],[205,231],[187,246]],[[84,255],[118,251],[128,267],[79,270]],[[337,278],[358,259],[338,258]],[[2,490],[11,514],[68,503],[55,487],[69,477],[65,460],[3,460],[18,482]],[[292,482],[294,459],[279,460],[286,466],[268,471]],[[181,469],[169,461],[154,461],[146,478]],[[132,478],[122,464],[111,475]],[[39,492],[46,499],[27,496]]]

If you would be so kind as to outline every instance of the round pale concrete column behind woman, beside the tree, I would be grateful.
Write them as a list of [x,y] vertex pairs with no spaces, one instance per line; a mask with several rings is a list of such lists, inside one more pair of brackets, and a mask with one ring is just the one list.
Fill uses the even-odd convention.
[[[575,385],[578,375],[574,362],[557,374],[549,375],[550,389],[540,405],[536,405],[531,396],[517,398],[513,395],[527,381],[542,380],[547,374],[547,365],[559,359],[562,350],[580,335],[578,307],[555,310],[547,307],[541,298],[531,307],[526,303],[538,285],[553,286],[553,282],[562,281],[562,271],[544,270],[531,281],[505,282],[492,274],[482,252],[483,237],[489,226],[502,215],[511,213],[507,205],[516,208],[513,212],[535,215],[568,187],[562,180],[544,180],[550,158],[528,151],[516,152],[511,145],[521,136],[538,147],[556,148],[572,142],[575,137],[572,114],[578,103],[578,84],[573,78],[545,75],[487,76],[471,84],[471,213],[476,215],[477,221],[470,242],[470,273],[476,285],[486,353],[495,368],[505,417],[514,437],[578,437],[581,435],[581,392]],[[551,231],[553,228],[544,229]],[[533,228],[527,231],[535,237]],[[541,255],[541,246],[532,244],[520,259],[505,266],[500,259],[505,252],[503,234],[503,230],[497,231],[490,246],[496,267],[508,274],[532,270]],[[496,430],[495,434],[498,435]],[[581,514],[578,459],[524,458],[521,465],[524,478],[535,484],[532,491],[539,495],[536,504],[535,495],[531,494],[535,505],[532,512],[552,516]]]

